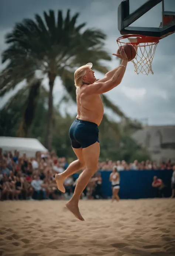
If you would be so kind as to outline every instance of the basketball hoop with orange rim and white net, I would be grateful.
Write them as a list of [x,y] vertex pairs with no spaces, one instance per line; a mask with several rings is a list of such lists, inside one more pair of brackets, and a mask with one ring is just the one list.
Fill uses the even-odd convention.
[[135,47],[137,54],[132,60],[137,74],[142,73],[148,75],[152,71],[152,60],[154,58],[155,50],[159,42],[158,37],[149,37],[145,35],[122,35],[117,38],[117,44],[122,46],[123,44],[132,44]]

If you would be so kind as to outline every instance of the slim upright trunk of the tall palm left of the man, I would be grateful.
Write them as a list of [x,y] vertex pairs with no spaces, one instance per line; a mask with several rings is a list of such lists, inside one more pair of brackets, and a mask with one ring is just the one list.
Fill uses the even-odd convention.
[[51,151],[52,150],[52,128],[53,128],[53,88],[54,88],[54,81],[56,75],[48,74],[49,75],[49,102],[48,102],[48,118],[47,118],[47,129],[46,129],[46,141],[45,147]]

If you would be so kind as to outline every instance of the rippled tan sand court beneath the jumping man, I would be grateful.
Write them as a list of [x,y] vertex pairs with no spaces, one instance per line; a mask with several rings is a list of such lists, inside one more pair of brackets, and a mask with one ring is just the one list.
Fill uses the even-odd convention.
[[0,256],[175,255],[175,200],[0,202]]

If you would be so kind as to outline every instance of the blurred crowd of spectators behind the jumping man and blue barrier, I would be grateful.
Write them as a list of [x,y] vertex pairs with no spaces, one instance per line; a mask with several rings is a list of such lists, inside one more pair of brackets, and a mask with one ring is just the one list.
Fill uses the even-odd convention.
[[[99,162],[99,170],[112,170],[116,166],[118,171],[123,170],[167,170],[172,168],[171,161],[159,166],[149,160],[127,164],[126,161],[107,160]],[[3,152],[0,149],[0,199],[68,199],[75,189],[76,179],[66,178],[64,186],[66,193],[62,194],[56,187],[54,176],[62,173],[68,167],[65,157],[56,156],[55,152],[36,152],[35,157]],[[83,197],[89,199],[103,198],[100,190],[102,178],[96,173],[83,191]]]

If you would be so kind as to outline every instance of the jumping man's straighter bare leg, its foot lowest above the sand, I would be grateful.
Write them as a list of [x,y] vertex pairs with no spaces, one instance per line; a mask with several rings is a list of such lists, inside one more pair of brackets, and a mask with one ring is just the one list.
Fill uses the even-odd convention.
[[79,212],[78,202],[79,197],[83,190],[87,186],[90,178],[98,169],[98,159],[100,155],[100,144],[96,142],[89,147],[83,149],[83,157],[85,159],[85,170],[81,173],[78,178],[75,191],[71,200],[66,204],[67,208],[76,216],[76,218],[84,221],[82,215]]

